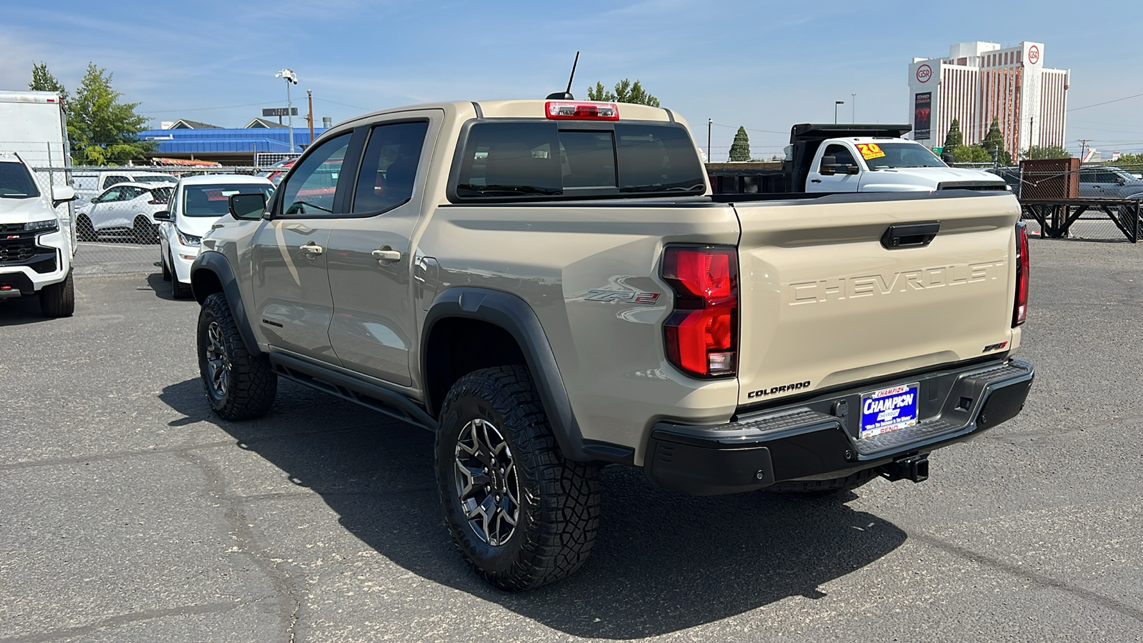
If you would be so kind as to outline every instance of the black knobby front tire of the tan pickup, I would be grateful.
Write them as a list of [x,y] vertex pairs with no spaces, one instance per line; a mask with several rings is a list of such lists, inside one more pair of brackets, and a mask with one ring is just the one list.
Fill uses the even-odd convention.
[[[210,339],[213,324],[217,324],[214,331],[222,348],[221,356],[209,350],[216,348]],[[278,375],[265,355],[254,356],[247,350],[226,296],[222,293],[215,293],[202,302],[198,339],[199,373],[210,408],[224,420],[250,420],[265,415],[274,404]],[[219,356],[217,367],[225,371],[225,379],[217,388],[213,382],[209,355]]]

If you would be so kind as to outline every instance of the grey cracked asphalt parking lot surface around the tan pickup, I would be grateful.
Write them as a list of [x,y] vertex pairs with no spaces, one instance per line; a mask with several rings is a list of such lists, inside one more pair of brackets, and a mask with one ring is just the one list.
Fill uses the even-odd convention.
[[591,561],[518,595],[454,550],[427,432],[289,382],[213,416],[158,275],[78,279],[70,319],[0,302],[0,642],[1140,641],[1143,248],[1031,252],[1028,407],[928,482],[687,498],[609,468]]

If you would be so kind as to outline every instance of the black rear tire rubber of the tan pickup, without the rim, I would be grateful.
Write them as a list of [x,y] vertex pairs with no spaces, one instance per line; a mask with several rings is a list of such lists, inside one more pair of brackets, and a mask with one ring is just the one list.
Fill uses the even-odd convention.
[[[501,589],[519,592],[583,565],[599,529],[600,469],[563,459],[527,368],[497,366],[464,375],[448,391],[440,420],[440,499],[453,540],[475,572]],[[495,427],[515,468],[518,519],[497,546],[470,524],[457,491],[457,443],[475,420]]]

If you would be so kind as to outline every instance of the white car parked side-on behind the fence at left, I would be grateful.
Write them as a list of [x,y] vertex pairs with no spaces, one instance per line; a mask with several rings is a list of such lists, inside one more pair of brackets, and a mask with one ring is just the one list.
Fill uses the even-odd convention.
[[154,213],[167,209],[171,185],[154,183],[119,183],[103,191],[79,209],[75,232],[81,241],[94,241],[102,235],[128,236],[137,244],[159,240],[159,223]]

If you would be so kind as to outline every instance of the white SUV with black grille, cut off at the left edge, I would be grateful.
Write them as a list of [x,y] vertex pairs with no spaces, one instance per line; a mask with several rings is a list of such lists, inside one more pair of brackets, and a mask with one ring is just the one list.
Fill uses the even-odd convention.
[[54,190],[42,193],[19,157],[0,156],[0,299],[38,293],[46,317],[70,317],[74,245],[55,208],[75,200],[75,191]]

